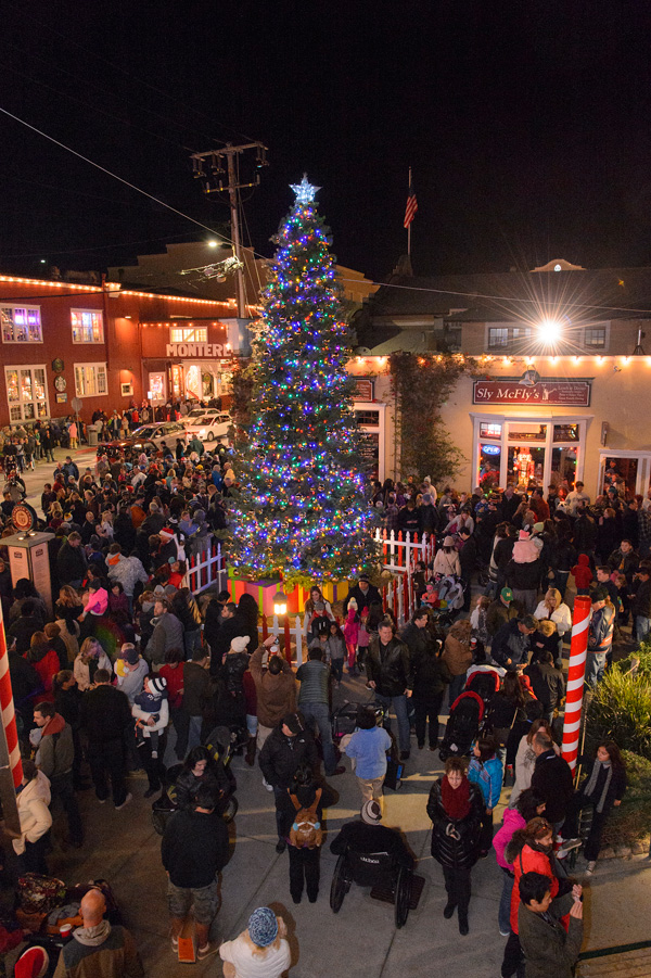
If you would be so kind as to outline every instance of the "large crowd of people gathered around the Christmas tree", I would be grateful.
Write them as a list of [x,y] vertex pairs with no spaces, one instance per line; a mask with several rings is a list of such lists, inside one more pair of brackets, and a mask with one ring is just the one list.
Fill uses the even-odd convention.
[[[396,767],[409,773],[414,749],[439,748],[446,700],[454,712],[470,678],[490,673],[495,690],[469,755],[446,760],[426,801],[432,854],[448,898],[444,917],[456,912],[459,932],[469,932],[472,869],[494,847],[503,876],[496,924],[508,938],[502,976],[523,975],[525,958],[527,978],[550,974],[540,962],[552,954],[553,973],[570,974],[580,943],[582,891],[562,863],[584,844],[578,820],[590,806],[585,855],[587,872],[595,869],[626,775],[617,745],[605,742],[576,790],[560,757],[569,581],[590,596],[586,681],[593,685],[628,619],[640,639],[651,623],[644,500],[621,498],[615,485],[593,506],[580,484],[547,498],[516,486],[437,496],[429,480],[378,486],[373,503],[387,528],[395,517],[396,528],[439,538],[432,564],[416,569],[416,610],[398,627],[368,577],[340,602],[315,585],[304,617],[307,658],[295,668],[276,637],[260,642],[253,597],[235,604],[229,592],[197,596],[187,586],[188,556],[226,525],[225,499],[234,482],[224,453],[177,455],[164,446],[154,458],[100,455],[85,471],[68,457],[41,497],[54,533],[52,613],[28,580],[12,585],[0,560],[25,758],[21,834],[8,865],[16,876],[48,873],[52,809],[65,824],[65,844],[84,846],[77,792],[91,787],[88,775],[98,801],[122,811],[132,800],[130,772],[144,771],[144,795],[153,799],[168,789],[166,761],[169,767],[176,757],[182,770],[175,774],[175,811],[162,843],[171,948],[178,950],[192,907],[200,960],[219,951],[225,974],[230,967],[240,978],[272,978],[289,957],[284,925],[268,907],[256,911],[237,941],[210,941],[216,879],[229,858],[222,814],[233,790],[214,732],[226,728],[240,738],[250,766],[257,758],[259,790],[273,796],[276,848],[289,853],[290,894],[299,903],[305,891],[317,902],[323,812],[337,793],[329,782],[353,777],[361,806],[360,821],[342,827],[332,851],[373,852],[381,840],[396,864],[413,868],[399,827],[383,824],[383,786],[392,770],[394,776]],[[10,524],[9,505],[2,518]],[[462,584],[468,618],[461,611],[446,619],[437,595],[449,577]],[[361,704],[354,729],[335,739],[333,697],[343,682]],[[508,808],[494,837],[500,799]],[[98,906],[93,912],[97,917]],[[86,925],[81,915],[80,930],[99,926],[110,940],[110,927]],[[267,948],[273,953],[261,954]],[[250,966],[260,954],[266,970]],[[58,974],[91,974],[75,970],[73,957],[64,949]],[[136,954],[132,970],[111,974],[136,976],[139,967]]]

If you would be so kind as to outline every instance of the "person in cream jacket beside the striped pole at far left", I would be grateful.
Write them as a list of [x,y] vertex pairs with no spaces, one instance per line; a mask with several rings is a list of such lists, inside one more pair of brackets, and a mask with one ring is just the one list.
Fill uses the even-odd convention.
[[34,761],[23,761],[23,782],[16,795],[21,834],[12,839],[21,874],[48,874],[44,850],[46,834],[52,826],[49,803],[50,782]]

